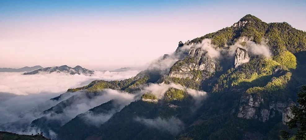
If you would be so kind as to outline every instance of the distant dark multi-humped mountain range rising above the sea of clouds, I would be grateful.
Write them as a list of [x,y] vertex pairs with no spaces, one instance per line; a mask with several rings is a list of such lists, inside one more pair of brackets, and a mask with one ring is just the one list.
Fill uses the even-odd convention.
[[38,69],[34,70],[31,72],[26,72],[24,75],[29,75],[29,74],[40,74],[40,73],[52,73],[52,72],[57,72],[57,73],[67,73],[67,74],[85,74],[85,75],[90,75],[93,74],[94,71],[92,70],[87,70],[85,68],[82,68],[81,66],[75,66],[74,68],[69,67],[67,65],[63,66],[55,66],[55,67],[47,67],[43,69]]

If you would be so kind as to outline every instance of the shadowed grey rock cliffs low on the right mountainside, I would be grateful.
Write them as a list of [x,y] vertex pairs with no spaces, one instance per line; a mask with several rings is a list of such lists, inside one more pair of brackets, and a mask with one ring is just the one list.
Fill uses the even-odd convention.
[[288,122],[287,115],[293,117],[290,110],[290,106],[294,103],[292,101],[281,102],[281,101],[270,101],[268,102],[268,107],[263,107],[262,104],[267,104],[263,98],[256,97],[252,95],[242,96],[240,99],[240,107],[237,117],[245,119],[258,119],[259,121],[265,122],[270,118],[275,117],[276,113],[282,116],[282,122]]

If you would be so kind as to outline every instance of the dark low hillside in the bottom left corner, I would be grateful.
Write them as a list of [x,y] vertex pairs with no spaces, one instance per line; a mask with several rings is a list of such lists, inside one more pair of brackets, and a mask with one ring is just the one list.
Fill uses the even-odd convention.
[[1,140],[50,140],[42,136],[42,134],[20,135],[20,134],[2,132],[2,131],[0,131],[0,139]]

